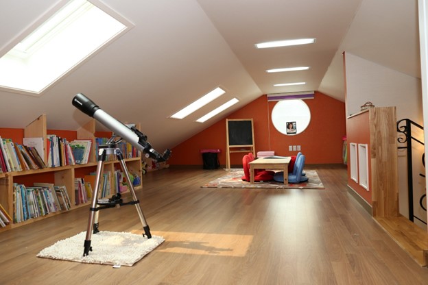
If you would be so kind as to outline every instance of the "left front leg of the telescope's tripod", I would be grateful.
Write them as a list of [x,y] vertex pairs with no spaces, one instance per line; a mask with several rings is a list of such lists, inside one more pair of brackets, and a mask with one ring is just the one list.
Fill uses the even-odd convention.
[[[89,208],[90,214],[88,219],[88,227],[86,229],[86,238],[84,241],[84,251],[83,256],[88,256],[89,251],[92,251],[91,247],[91,234],[94,226],[94,234],[96,234],[95,230],[98,231],[98,211],[97,211],[97,201],[99,195],[99,186],[101,182],[102,173],[104,171],[104,161],[106,160],[106,150],[99,149],[98,153],[98,164],[97,164],[97,173],[95,178],[95,189],[92,194],[92,202],[91,208]],[[95,224],[94,224],[95,221]]]

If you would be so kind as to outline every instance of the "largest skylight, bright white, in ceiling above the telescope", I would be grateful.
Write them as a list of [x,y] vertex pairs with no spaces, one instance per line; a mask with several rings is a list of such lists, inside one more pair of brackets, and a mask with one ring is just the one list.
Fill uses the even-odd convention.
[[[107,14],[102,3],[91,2],[69,1],[36,29],[19,36],[16,45],[0,58],[0,88],[40,95],[99,48],[132,27],[115,12],[109,10]],[[28,36],[22,40],[25,35]],[[21,42],[17,42],[19,40]]]

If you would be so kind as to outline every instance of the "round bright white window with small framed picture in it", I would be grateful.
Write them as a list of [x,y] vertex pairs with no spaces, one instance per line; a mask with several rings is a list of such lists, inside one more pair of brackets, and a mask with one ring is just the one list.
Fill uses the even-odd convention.
[[281,134],[300,134],[305,131],[310,121],[311,110],[303,100],[278,101],[272,110],[272,123]]

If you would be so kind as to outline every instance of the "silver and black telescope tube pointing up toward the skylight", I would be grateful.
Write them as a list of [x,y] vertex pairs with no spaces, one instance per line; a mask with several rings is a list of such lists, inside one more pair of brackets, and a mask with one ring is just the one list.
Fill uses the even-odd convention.
[[169,149],[166,149],[162,155],[158,153],[158,151],[154,150],[152,145],[147,142],[147,136],[145,136],[145,134],[136,129],[136,127],[127,127],[123,123],[117,121],[82,93],[75,95],[72,103],[75,108],[78,108],[88,116],[93,117],[99,121],[99,123],[102,123],[102,125],[108,127],[112,132],[126,140],[132,146],[136,147],[136,149],[145,153],[147,158],[150,157],[156,162],[164,162],[167,161],[171,155],[171,151]]

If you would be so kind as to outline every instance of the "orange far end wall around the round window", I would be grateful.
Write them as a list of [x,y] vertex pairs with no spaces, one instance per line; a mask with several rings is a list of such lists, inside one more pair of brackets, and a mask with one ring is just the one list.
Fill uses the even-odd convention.
[[[309,126],[296,136],[278,132],[271,123],[270,114],[276,102],[268,102],[263,95],[230,114],[227,119],[253,119],[256,151],[275,151],[278,156],[294,156],[289,145],[300,145],[307,164],[342,163],[342,136],[346,135],[345,104],[321,92],[314,99],[305,100],[311,110]],[[225,118],[226,119],[226,118]],[[168,163],[171,165],[202,165],[200,149],[221,149],[220,164],[226,164],[226,120],[174,147]],[[230,164],[242,164],[243,153],[230,153]]]

